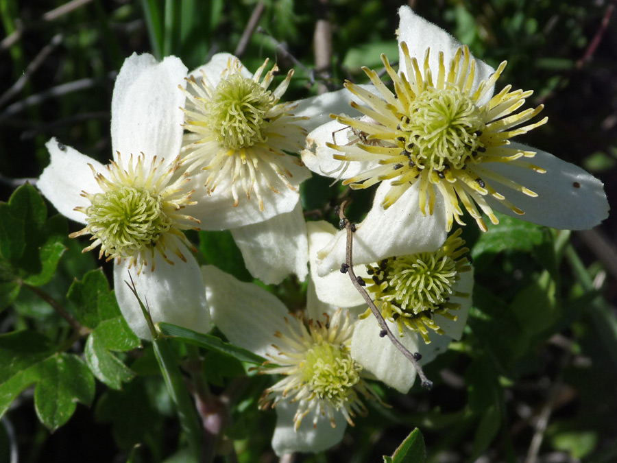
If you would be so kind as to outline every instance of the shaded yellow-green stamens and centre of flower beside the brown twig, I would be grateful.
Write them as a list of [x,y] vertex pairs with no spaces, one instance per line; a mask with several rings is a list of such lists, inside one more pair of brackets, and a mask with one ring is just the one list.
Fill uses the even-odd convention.
[[400,333],[406,326],[420,333],[428,343],[427,328],[444,333],[433,316],[456,320],[452,312],[461,305],[450,302],[450,297],[468,296],[457,292],[455,285],[461,272],[470,270],[469,249],[461,247],[465,241],[459,235],[460,229],[435,252],[389,257],[376,265],[367,265],[367,289],[374,294],[383,317],[398,323]]

